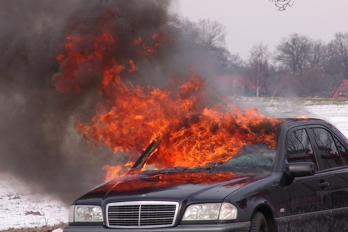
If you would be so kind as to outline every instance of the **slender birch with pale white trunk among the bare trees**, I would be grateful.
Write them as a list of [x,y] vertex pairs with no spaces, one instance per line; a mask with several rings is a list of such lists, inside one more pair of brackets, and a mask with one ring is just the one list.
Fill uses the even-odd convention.
[[267,45],[263,45],[262,42],[259,45],[254,45],[250,52],[249,66],[256,82],[256,97],[259,97],[260,82],[262,86],[268,75],[269,56]]

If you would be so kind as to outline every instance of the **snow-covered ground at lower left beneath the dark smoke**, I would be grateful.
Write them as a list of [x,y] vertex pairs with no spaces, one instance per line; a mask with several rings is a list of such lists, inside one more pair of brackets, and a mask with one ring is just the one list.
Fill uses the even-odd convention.
[[53,197],[42,197],[10,174],[0,175],[0,230],[68,222],[69,210]]

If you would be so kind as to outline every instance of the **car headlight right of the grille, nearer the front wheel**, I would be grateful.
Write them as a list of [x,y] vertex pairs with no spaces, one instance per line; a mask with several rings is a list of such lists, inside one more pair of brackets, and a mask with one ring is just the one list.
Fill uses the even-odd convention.
[[228,202],[189,206],[182,218],[190,220],[232,220],[237,218],[237,207]]

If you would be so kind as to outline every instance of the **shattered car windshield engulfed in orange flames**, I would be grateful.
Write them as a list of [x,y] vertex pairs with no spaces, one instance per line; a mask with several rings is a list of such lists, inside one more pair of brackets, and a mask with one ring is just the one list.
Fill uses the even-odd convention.
[[179,171],[187,168],[271,172],[275,163],[280,125],[281,121],[276,125],[258,125],[251,128],[253,133],[239,128],[211,144],[198,143],[198,139],[183,139],[176,141],[179,145],[168,146],[170,137],[157,136],[134,163],[130,173],[159,169]]

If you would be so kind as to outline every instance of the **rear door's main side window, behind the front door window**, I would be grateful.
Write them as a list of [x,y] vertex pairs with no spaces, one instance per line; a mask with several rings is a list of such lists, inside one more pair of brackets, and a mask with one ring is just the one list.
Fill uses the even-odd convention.
[[324,168],[329,169],[343,166],[340,153],[331,133],[324,128],[310,128],[309,131],[318,146]]

